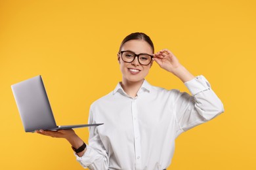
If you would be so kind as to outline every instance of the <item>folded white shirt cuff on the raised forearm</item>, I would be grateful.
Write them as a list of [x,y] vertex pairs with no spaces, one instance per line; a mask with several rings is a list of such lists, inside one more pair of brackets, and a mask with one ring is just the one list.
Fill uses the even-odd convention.
[[211,85],[202,75],[196,76],[192,80],[184,82],[184,84],[192,95],[211,89]]

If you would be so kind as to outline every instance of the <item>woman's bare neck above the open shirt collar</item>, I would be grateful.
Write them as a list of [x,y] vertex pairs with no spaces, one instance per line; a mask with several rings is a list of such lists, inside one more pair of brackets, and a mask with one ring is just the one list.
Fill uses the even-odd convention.
[[136,97],[143,81],[144,81],[144,79],[139,80],[138,82],[130,82],[127,80],[123,80],[121,82],[121,86],[122,86],[123,90],[125,91],[125,93],[127,93],[127,95],[129,95],[131,97]]

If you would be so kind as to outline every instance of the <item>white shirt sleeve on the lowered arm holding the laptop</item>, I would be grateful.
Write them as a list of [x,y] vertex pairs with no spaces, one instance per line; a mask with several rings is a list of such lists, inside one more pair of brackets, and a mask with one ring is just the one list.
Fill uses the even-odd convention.
[[[95,124],[93,120],[93,111],[90,109],[89,124]],[[83,156],[79,157],[75,154],[76,160],[84,168],[91,170],[108,169],[108,154],[102,141],[96,126],[89,127],[89,144],[87,144],[87,150]]]

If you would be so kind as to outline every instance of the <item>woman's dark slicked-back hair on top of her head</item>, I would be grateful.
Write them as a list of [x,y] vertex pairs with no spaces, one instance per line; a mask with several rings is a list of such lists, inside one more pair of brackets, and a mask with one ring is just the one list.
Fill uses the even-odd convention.
[[148,37],[148,35],[146,35],[145,33],[139,33],[139,32],[131,33],[130,35],[127,35],[127,37],[125,37],[125,39],[123,39],[123,41],[121,42],[119,51],[121,51],[123,44],[125,44],[125,42],[130,41],[130,40],[142,40],[142,41],[148,42],[148,44],[151,46],[153,53],[154,53],[154,44],[151,41],[150,37]]

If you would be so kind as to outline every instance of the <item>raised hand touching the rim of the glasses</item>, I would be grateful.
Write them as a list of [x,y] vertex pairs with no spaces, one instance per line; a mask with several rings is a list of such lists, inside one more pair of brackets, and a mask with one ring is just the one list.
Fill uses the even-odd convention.
[[156,54],[153,54],[154,60],[162,69],[174,73],[175,69],[179,68],[181,64],[179,60],[167,49],[163,49]]

